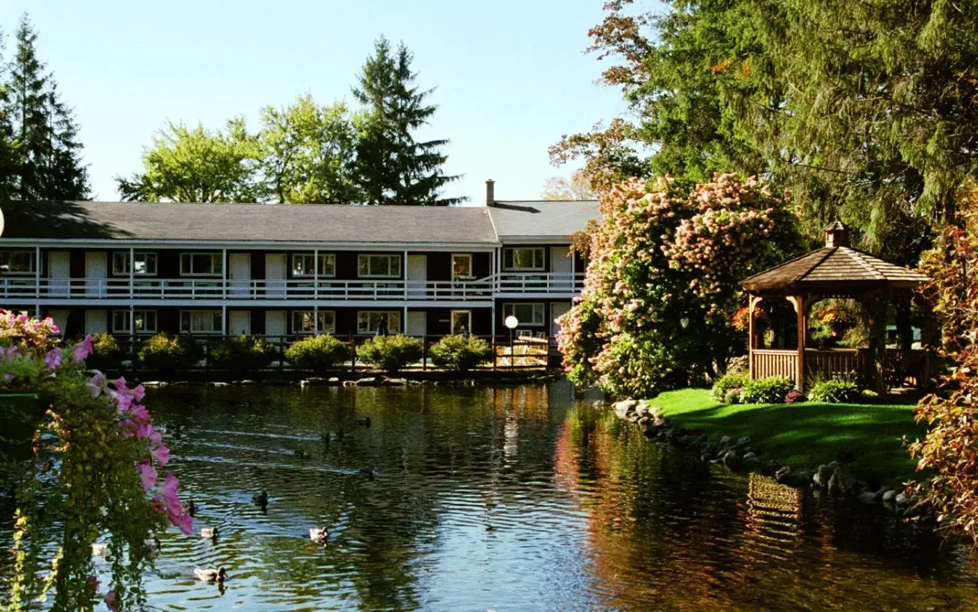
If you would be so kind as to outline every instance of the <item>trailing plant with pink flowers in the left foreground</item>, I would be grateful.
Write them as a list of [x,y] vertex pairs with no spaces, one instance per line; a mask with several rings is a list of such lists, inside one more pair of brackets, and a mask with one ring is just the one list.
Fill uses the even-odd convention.
[[[14,332],[12,332],[14,330]],[[152,566],[147,541],[167,520],[189,534],[178,481],[158,469],[169,449],[142,405],[141,385],[85,369],[92,338],[63,349],[50,320],[0,311],[0,393],[40,393],[46,411],[22,469],[14,524],[8,609],[34,609],[49,598],[55,610],[111,609],[145,604],[142,574]],[[16,339],[15,339],[16,338]],[[92,544],[104,538],[114,559],[111,589],[100,595]],[[51,571],[40,574],[42,560]]]

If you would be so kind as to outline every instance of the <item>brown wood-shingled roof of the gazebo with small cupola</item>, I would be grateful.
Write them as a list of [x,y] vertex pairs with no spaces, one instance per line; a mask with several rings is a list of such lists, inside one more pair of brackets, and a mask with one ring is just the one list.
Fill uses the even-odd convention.
[[840,222],[825,229],[825,246],[740,282],[752,293],[825,292],[831,289],[913,288],[927,280],[849,246]]

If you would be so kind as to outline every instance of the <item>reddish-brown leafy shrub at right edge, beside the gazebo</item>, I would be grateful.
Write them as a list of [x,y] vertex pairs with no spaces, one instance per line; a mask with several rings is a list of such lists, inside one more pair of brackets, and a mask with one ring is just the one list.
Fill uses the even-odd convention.
[[941,523],[978,540],[978,190],[962,198],[957,223],[944,229],[921,268],[930,276],[921,294],[942,324],[941,354],[955,367],[915,410],[930,428],[911,444],[911,455],[934,473],[915,488]]

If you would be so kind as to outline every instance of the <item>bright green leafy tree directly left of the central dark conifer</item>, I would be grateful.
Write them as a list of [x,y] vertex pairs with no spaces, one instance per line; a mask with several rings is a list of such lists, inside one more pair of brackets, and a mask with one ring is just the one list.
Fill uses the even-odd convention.
[[323,107],[305,94],[289,107],[266,107],[261,120],[263,197],[280,204],[362,201],[353,181],[356,133],[346,105]]

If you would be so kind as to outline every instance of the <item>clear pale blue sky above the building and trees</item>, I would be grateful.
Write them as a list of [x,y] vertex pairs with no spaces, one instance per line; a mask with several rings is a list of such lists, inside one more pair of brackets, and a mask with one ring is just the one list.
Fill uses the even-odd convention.
[[422,136],[447,138],[448,196],[539,197],[547,148],[624,111],[596,85],[602,63],[583,50],[602,0],[3,0],[11,53],[22,12],[38,54],[75,109],[93,196],[118,199],[112,177],[140,168],[167,119],[221,127],[235,115],[311,93],[353,103],[350,86],[383,34],[414,53],[418,83],[440,108]]

